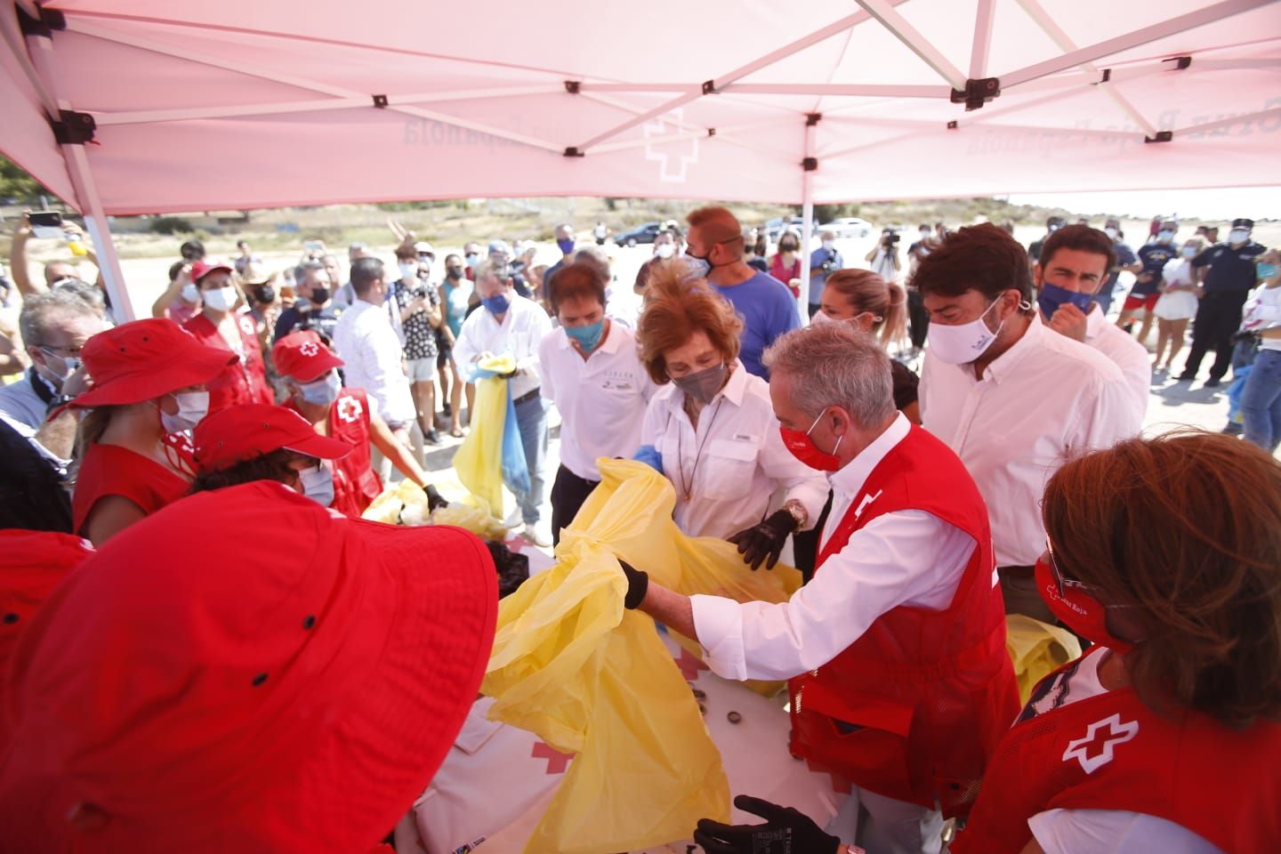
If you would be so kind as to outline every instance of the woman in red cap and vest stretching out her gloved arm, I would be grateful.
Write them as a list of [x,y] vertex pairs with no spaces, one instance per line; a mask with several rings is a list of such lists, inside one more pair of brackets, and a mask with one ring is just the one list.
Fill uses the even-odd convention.
[[427,472],[414,455],[401,444],[387,423],[369,406],[364,389],[346,388],[338,382],[334,356],[311,330],[284,335],[272,347],[272,361],[290,392],[288,407],[311,424],[320,435],[342,439],[352,451],[333,465],[332,507],[347,516],[360,516],[383,490],[378,472],[369,461],[373,443],[406,478],[427,490],[428,506],[436,510],[446,502],[428,483]]

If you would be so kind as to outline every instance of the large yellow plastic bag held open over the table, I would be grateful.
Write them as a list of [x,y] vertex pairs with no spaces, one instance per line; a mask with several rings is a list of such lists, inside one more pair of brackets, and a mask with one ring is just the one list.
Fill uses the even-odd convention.
[[493,720],[576,753],[525,850],[608,854],[728,821],[729,787],[688,684],[653,621],[625,611],[615,554],[681,593],[781,602],[789,567],[752,572],[737,548],[687,538],[675,492],[649,466],[598,460],[601,485],[561,531],[556,566],[498,606],[482,691]]

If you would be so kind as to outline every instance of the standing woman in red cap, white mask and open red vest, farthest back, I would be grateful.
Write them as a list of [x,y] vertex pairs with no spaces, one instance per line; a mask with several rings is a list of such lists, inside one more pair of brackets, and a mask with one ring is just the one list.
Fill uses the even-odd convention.
[[216,412],[233,403],[274,403],[254,320],[234,311],[240,291],[232,283],[232,268],[196,261],[191,265],[191,280],[200,291],[204,309],[182,328],[202,344],[236,355],[208,383],[209,411]]

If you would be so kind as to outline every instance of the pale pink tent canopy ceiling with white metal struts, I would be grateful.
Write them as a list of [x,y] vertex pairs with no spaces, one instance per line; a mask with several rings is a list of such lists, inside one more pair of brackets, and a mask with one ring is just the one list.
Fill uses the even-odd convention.
[[[1281,5],[1266,0],[46,9],[65,29],[28,37],[26,54],[12,9],[4,22],[0,150],[72,198],[23,68],[44,51],[42,85],[97,122],[86,154],[109,214],[468,196],[799,202],[806,174],[816,202],[1281,183]],[[952,104],[967,77],[997,77],[999,97]],[[807,114],[821,114],[808,133]],[[1144,142],[1158,131],[1172,141]]]

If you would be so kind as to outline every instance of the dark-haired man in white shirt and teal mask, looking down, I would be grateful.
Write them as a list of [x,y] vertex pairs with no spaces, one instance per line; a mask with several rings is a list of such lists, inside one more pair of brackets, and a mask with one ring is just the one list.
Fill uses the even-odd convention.
[[552,484],[552,543],[601,481],[598,457],[630,457],[657,388],[635,337],[605,316],[605,277],[594,265],[561,268],[547,291],[560,329],[538,348],[542,394],[561,414],[561,465]]

